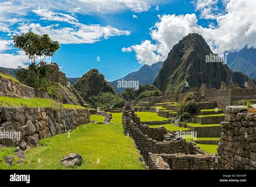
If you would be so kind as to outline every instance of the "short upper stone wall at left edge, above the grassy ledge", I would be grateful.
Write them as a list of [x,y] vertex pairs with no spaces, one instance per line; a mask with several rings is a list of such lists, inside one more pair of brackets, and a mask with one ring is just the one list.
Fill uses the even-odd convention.
[[24,84],[0,77],[0,96],[34,98],[36,91]]

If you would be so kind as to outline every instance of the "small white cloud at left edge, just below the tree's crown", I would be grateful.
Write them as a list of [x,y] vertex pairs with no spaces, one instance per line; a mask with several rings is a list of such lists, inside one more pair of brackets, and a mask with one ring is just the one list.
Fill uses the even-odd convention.
[[0,66],[6,68],[17,68],[18,66],[25,67],[24,63],[29,62],[28,56],[23,51],[18,51],[17,54],[0,53]]

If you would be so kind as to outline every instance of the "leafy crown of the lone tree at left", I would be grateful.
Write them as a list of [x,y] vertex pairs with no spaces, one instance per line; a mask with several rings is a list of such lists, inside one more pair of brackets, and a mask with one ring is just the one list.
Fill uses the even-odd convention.
[[22,49],[33,64],[36,63],[38,57],[42,62],[46,56],[53,56],[60,48],[58,41],[51,40],[48,34],[41,36],[31,31],[22,35],[14,35],[12,40],[14,40],[14,46]]

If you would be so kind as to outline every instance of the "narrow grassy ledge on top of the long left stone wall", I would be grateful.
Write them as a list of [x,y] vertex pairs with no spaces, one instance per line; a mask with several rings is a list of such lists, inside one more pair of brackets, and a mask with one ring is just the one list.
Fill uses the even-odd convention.
[[42,98],[11,98],[6,96],[0,97],[0,106],[28,106],[28,107],[45,107],[45,108],[53,108],[60,109],[61,107],[69,108],[69,109],[84,109],[83,106],[78,105],[70,105],[70,104],[60,104],[55,102],[52,99],[42,99]]

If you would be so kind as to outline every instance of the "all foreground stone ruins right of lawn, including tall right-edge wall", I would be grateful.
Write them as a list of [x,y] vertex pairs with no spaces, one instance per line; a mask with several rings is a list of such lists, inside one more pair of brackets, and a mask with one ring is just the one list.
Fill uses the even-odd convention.
[[129,104],[122,124],[149,169],[256,169],[256,114],[247,112],[246,106],[226,106],[226,112],[215,155],[164,127],[141,124]]

